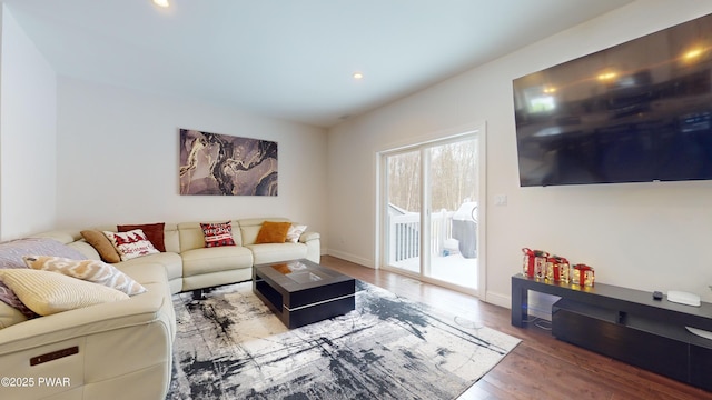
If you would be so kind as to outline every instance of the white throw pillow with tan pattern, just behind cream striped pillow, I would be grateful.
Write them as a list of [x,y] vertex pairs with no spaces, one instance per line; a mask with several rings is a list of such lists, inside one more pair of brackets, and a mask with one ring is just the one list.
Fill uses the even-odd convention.
[[139,282],[99,260],[71,260],[51,256],[26,256],[24,263],[32,269],[52,271],[68,277],[103,284],[120,290],[128,296],[140,294],[146,291]]

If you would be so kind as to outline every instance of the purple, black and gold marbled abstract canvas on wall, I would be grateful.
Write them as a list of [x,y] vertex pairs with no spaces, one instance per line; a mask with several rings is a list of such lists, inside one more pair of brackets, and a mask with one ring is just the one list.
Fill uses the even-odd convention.
[[180,129],[180,194],[277,196],[277,142]]

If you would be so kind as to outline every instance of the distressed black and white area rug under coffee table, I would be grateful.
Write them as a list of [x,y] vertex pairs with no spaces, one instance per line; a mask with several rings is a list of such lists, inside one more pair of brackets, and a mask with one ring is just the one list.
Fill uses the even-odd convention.
[[167,399],[456,399],[520,342],[356,284],[356,310],[293,330],[250,282],[174,296]]

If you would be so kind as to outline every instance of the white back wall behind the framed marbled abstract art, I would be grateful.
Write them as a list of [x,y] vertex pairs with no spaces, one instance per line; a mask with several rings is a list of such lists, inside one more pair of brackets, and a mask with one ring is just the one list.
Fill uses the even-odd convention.
[[[58,99],[59,228],[287,217],[326,230],[324,129],[65,77]],[[279,196],[180,196],[180,128],[277,141]]]

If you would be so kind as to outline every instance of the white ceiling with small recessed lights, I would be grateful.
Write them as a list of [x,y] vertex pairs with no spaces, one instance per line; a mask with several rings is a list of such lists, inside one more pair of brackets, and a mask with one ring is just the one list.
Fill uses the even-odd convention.
[[329,127],[632,0],[0,1],[61,76]]

